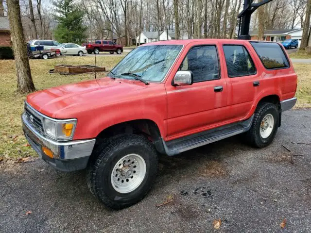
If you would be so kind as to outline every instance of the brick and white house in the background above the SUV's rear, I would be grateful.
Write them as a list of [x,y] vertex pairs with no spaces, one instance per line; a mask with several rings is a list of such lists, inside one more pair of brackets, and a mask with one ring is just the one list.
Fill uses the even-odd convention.
[[[286,39],[298,39],[299,45],[302,37],[302,28],[299,29],[284,29],[284,30],[266,30],[264,31],[264,40],[265,41],[276,41],[282,42]],[[250,31],[251,40],[257,40],[258,31]]]

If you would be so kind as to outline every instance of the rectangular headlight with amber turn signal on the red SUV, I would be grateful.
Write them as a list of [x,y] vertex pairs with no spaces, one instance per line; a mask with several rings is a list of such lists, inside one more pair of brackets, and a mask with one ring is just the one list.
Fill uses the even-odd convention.
[[51,120],[44,119],[44,132],[55,140],[67,141],[73,138],[77,120]]

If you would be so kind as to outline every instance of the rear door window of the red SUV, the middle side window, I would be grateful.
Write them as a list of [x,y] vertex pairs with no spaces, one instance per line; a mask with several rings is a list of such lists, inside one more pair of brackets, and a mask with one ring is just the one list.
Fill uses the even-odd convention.
[[248,51],[242,45],[224,45],[225,63],[230,78],[256,73]]

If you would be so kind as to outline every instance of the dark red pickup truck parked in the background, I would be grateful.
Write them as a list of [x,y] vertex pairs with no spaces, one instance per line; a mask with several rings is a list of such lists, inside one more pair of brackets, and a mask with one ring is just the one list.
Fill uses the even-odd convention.
[[123,47],[121,45],[117,45],[110,40],[96,40],[94,44],[84,43],[82,46],[86,47],[88,54],[92,52],[94,52],[94,54],[99,54],[99,52],[110,52],[110,54],[116,52],[117,54],[121,54],[123,52]]

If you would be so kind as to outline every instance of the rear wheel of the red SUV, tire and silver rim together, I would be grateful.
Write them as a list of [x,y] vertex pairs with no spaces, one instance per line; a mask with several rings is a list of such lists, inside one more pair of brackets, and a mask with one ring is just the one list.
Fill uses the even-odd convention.
[[270,145],[276,135],[279,112],[275,104],[262,102],[257,107],[250,130],[246,133],[246,140],[257,148]]

